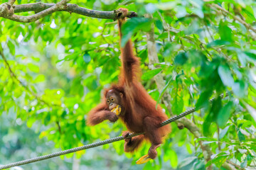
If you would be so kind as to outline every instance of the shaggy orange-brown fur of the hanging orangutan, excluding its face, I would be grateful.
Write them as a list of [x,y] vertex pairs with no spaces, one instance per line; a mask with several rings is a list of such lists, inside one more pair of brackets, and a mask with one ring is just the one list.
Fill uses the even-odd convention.
[[[127,9],[120,8],[119,10],[126,16]],[[121,38],[121,28],[124,21],[125,18],[121,18],[118,21]],[[156,101],[149,96],[139,82],[141,72],[139,58],[133,54],[131,40],[124,47],[121,47],[121,55],[122,67],[119,83],[107,89],[105,91],[105,97],[110,90],[116,94],[122,93],[122,109],[124,113],[119,115],[119,118],[127,126],[129,132],[144,132],[144,135],[132,137],[132,140],[125,140],[124,151],[134,152],[142,144],[142,141],[146,139],[151,142],[149,157],[154,159],[157,153],[156,148],[163,142],[164,136],[171,132],[171,127],[170,125],[160,127],[160,123],[166,120],[167,116],[160,106],[157,106],[156,109]],[[110,115],[106,99],[103,98],[102,103],[89,113],[87,124],[96,125],[103,120],[110,120]]]

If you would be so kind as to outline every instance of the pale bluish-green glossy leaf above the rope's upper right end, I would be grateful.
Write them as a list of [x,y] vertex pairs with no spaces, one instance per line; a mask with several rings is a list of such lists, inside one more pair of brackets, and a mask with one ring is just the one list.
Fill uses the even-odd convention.
[[230,72],[230,68],[227,65],[220,65],[218,67],[218,74],[225,86],[233,86],[234,79],[232,73]]

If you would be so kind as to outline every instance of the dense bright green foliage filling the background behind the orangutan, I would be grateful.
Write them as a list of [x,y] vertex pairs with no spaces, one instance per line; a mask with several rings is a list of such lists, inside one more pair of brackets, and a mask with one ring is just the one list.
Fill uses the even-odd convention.
[[[16,5],[38,1],[16,1]],[[125,7],[140,16],[153,15],[153,19],[129,19],[122,45],[132,38],[134,52],[141,59],[142,84],[166,114],[170,115],[161,100],[165,92],[171,95],[174,115],[201,108],[187,118],[201,130],[202,137],[172,123],[173,130],[154,162],[135,164],[149,145],[124,154],[124,142],[114,142],[78,152],[75,159],[62,157],[63,162],[55,164],[56,159],[49,159],[24,167],[70,169],[70,162],[78,159],[74,164],[81,164],[81,169],[220,169],[224,162],[231,162],[235,169],[256,169],[255,1],[70,3],[99,11]],[[102,89],[118,80],[117,22],[56,12],[34,23],[5,18],[0,18],[0,23],[0,54],[6,58],[0,57],[0,164],[55,152],[53,147],[70,149],[105,140],[125,130],[120,122],[87,127],[85,120],[100,102]],[[151,23],[159,57],[154,70],[150,69],[145,36]],[[156,74],[164,77],[164,89],[156,86]],[[233,94],[221,99],[219,95],[225,91]],[[214,101],[208,102],[213,97]],[[210,162],[206,163],[199,141],[210,147]]]

